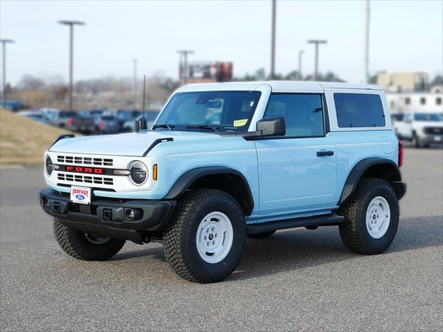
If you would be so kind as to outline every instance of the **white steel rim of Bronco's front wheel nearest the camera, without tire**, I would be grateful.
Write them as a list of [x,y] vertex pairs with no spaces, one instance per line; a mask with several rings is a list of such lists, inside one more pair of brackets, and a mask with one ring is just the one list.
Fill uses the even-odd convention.
[[223,260],[233,245],[233,225],[226,214],[211,212],[201,220],[197,228],[197,250],[200,257],[216,264]]

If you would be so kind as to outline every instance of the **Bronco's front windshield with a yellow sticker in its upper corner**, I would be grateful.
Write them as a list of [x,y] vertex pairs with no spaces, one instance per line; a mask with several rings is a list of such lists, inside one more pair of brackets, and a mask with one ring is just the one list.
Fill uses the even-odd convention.
[[[161,112],[154,129],[164,130],[168,124],[168,129],[175,130],[212,127],[217,131],[247,131],[260,94],[260,91],[176,93]],[[164,127],[156,127],[161,125]]]

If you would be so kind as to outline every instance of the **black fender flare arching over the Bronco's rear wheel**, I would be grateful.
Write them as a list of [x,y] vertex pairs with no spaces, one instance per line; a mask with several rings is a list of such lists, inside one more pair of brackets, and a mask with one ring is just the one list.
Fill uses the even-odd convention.
[[356,163],[350,174],[347,176],[345,186],[343,187],[343,191],[341,192],[340,201],[338,201],[338,205],[342,205],[347,201],[347,199],[354,194],[357,185],[359,184],[361,176],[372,166],[374,165],[388,165],[391,172],[390,182],[394,187],[395,191],[399,198],[403,196],[404,192],[401,192],[397,183],[401,182],[401,173],[399,166],[394,161],[387,158],[367,158],[360,160],[359,163]]

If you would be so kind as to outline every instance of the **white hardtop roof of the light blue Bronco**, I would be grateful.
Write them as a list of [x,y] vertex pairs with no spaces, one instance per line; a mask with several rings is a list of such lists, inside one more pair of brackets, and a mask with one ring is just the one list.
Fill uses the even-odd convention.
[[255,90],[261,84],[271,86],[272,92],[280,93],[323,93],[325,89],[363,89],[383,90],[378,85],[351,84],[339,82],[313,82],[313,81],[260,81],[260,82],[225,82],[201,83],[181,86],[177,92],[212,91],[212,90]]

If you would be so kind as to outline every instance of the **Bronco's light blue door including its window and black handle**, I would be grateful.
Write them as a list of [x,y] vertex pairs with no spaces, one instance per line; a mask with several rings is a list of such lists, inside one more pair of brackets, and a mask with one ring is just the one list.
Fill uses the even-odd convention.
[[[336,156],[325,98],[273,93],[264,118],[283,117],[286,134],[255,140],[260,210],[265,220],[321,211],[335,205]],[[326,121],[325,121],[326,119]]]

